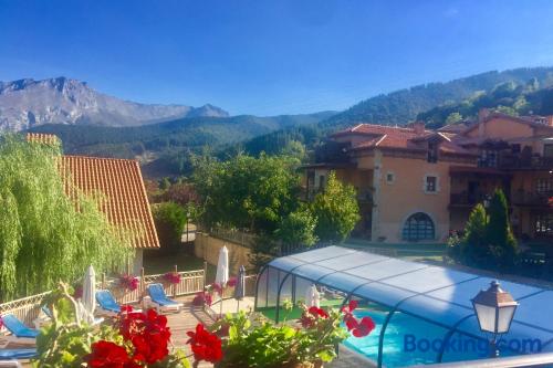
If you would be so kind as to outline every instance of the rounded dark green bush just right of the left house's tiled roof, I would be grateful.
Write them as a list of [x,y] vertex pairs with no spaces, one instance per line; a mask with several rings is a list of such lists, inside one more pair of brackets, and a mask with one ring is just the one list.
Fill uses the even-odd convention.
[[152,212],[161,250],[168,253],[177,252],[187,222],[185,209],[175,202],[163,202],[154,204]]

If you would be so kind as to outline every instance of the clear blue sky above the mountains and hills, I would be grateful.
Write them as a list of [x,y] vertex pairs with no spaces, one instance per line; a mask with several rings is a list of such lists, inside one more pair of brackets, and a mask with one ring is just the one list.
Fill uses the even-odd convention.
[[0,0],[0,80],[69,76],[231,114],[343,109],[415,84],[553,65],[553,1]]

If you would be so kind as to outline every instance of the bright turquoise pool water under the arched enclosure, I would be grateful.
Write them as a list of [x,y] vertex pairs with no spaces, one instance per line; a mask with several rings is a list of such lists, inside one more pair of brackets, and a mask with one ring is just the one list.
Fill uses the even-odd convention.
[[[369,359],[378,359],[378,338],[380,328],[386,319],[387,313],[357,309],[355,316],[362,318],[371,316],[376,328],[371,335],[356,338],[351,336],[344,345]],[[447,329],[428,322],[411,317],[403,313],[396,313],[386,328],[384,336],[383,365],[388,368],[411,366],[417,364],[436,362],[440,343],[447,334]],[[451,339],[452,348],[444,354],[444,361],[472,360],[488,356],[486,341],[480,341],[467,336],[455,334]]]

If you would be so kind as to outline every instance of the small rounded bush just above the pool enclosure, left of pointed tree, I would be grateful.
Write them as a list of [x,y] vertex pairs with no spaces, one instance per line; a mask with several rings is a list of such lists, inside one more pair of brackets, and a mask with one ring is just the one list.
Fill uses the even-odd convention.
[[276,236],[286,245],[311,246],[316,241],[315,235],[316,218],[310,209],[304,207],[290,213],[282,220]]

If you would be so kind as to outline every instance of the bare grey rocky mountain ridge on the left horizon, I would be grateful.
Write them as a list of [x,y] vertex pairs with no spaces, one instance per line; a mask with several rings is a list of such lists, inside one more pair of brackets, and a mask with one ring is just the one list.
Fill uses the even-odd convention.
[[206,116],[229,114],[209,104],[192,107],[124,101],[63,76],[0,82],[0,132],[19,132],[44,124],[136,126]]

